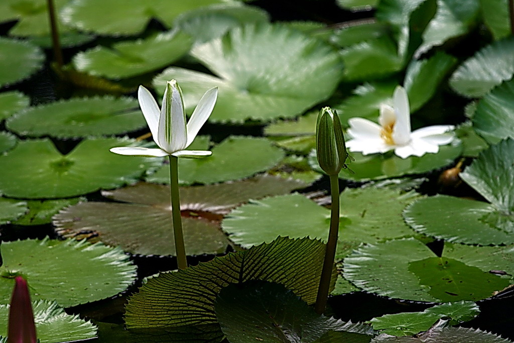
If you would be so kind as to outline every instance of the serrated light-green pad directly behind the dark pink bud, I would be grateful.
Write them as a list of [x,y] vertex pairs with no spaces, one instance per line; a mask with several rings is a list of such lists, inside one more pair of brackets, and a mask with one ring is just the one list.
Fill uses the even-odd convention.
[[14,277],[30,284],[32,300],[55,300],[63,307],[114,296],[136,278],[136,266],[120,248],[101,243],[44,239],[2,243],[0,303],[10,301]]

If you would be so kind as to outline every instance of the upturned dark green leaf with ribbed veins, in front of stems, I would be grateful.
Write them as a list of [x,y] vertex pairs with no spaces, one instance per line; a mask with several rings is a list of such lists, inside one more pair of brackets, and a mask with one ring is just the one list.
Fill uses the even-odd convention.
[[[216,324],[218,293],[230,283],[250,280],[282,283],[303,301],[314,303],[324,255],[325,245],[320,241],[281,237],[197,266],[161,273],[130,298],[125,323],[128,329]],[[333,273],[335,282],[335,269]]]

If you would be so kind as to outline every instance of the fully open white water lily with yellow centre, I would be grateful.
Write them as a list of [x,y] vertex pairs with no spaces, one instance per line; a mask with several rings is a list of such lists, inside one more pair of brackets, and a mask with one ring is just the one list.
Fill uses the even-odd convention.
[[363,155],[384,153],[394,150],[401,157],[423,156],[437,153],[439,146],[449,144],[454,136],[449,131],[453,125],[434,125],[411,132],[411,118],[407,92],[397,86],[393,94],[393,105],[382,104],[377,124],[363,118],[350,118],[347,133],[352,139],[346,148]]

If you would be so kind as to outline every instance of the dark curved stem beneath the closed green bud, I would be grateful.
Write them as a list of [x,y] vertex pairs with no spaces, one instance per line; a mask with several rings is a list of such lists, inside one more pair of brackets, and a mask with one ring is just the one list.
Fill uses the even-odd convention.
[[326,243],[323,269],[321,270],[318,296],[316,297],[316,305],[314,306],[314,310],[318,314],[323,314],[323,312],[325,312],[326,300],[328,298],[328,290],[330,288],[332,270],[334,268],[334,260],[336,257],[337,235],[339,233],[339,178],[337,174],[330,175],[330,188],[332,196],[330,231],[328,232],[328,242]]

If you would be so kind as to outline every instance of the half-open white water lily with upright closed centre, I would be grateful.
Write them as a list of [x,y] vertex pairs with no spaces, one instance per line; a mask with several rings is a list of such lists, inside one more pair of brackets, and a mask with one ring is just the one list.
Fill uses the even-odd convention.
[[182,91],[175,80],[168,82],[162,107],[155,101],[148,89],[139,86],[138,99],[144,119],[150,127],[155,143],[160,149],[119,147],[111,151],[120,155],[135,156],[168,156],[199,158],[210,156],[212,152],[204,150],[185,150],[191,145],[212,113],[218,95],[217,87],[209,89],[201,97],[191,119],[186,125],[186,112],[182,99]]

